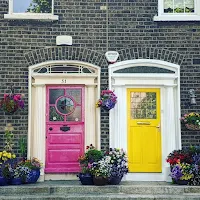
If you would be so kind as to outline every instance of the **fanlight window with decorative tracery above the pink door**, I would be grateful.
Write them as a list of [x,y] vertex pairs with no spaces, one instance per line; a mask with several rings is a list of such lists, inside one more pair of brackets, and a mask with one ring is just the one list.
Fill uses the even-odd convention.
[[94,74],[97,73],[96,70],[90,67],[73,65],[73,64],[63,64],[63,65],[48,65],[44,67],[37,68],[33,71],[34,73],[40,74],[51,74],[51,73],[81,73],[81,74]]

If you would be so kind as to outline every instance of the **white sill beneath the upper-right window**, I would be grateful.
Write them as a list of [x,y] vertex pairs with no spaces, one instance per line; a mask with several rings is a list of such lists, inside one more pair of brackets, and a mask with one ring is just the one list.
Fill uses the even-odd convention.
[[160,15],[154,16],[153,21],[200,21],[198,15]]

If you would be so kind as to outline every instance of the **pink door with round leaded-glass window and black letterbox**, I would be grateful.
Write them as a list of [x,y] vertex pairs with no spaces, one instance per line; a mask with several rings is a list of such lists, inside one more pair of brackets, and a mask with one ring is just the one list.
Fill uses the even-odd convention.
[[45,172],[78,172],[84,152],[84,88],[48,86],[46,108]]

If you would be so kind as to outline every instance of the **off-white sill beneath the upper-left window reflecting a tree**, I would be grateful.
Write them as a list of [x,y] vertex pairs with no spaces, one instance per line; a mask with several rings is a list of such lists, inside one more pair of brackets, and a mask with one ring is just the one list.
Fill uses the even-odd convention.
[[20,14],[4,14],[5,19],[11,20],[40,20],[40,21],[54,21],[58,20],[58,15],[52,14],[29,14],[29,13],[20,13]]

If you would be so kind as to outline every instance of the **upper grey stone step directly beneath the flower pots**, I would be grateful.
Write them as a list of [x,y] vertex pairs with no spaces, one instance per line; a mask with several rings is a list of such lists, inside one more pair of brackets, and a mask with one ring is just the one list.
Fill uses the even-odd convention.
[[78,181],[49,181],[19,186],[2,186],[0,195],[69,195],[69,194],[143,194],[143,195],[182,195],[200,194],[200,186],[179,186],[169,183],[122,182],[120,185],[84,186]]

